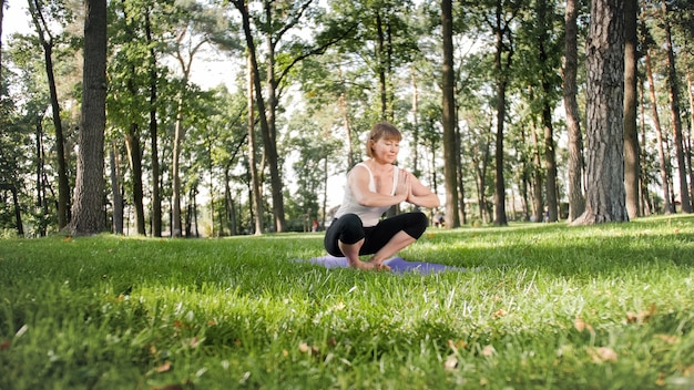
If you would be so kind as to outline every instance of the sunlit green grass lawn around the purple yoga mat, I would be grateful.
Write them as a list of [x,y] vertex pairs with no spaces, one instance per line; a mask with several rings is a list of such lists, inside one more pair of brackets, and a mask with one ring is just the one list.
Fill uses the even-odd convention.
[[322,237],[2,239],[0,389],[694,389],[694,216]]

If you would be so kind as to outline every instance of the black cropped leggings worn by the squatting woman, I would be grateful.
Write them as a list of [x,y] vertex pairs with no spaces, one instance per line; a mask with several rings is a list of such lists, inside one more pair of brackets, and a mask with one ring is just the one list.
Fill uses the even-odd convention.
[[381,219],[378,225],[364,227],[361,219],[356,214],[345,214],[333,220],[325,233],[325,248],[333,256],[345,257],[339,249],[338,242],[355,244],[365,238],[359,255],[372,255],[386,246],[399,232],[407,233],[418,239],[427,229],[429,220],[425,213],[405,213]]

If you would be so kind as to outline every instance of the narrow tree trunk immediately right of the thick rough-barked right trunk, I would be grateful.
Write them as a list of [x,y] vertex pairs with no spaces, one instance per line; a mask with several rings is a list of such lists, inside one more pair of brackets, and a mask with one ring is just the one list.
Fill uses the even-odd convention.
[[636,129],[636,0],[624,1],[624,189],[626,194],[626,212],[630,218],[640,216],[639,176],[640,150],[639,131]]

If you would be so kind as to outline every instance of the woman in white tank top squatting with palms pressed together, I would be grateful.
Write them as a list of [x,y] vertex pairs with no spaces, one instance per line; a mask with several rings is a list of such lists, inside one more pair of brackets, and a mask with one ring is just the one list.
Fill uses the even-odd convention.
[[[438,207],[439,197],[411,173],[394,163],[402,135],[390,123],[377,123],[366,141],[368,160],[347,175],[343,204],[325,234],[325,248],[333,256],[347,257],[351,267],[389,269],[382,261],[415,243],[425,232],[423,213],[405,213],[380,219],[394,205],[408,202]],[[360,255],[374,255],[367,261]]]

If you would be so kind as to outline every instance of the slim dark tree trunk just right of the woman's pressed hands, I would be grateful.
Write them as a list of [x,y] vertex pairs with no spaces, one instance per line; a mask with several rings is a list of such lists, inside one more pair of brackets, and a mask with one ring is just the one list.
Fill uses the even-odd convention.
[[446,227],[460,226],[458,214],[458,179],[456,174],[456,75],[453,73],[453,19],[452,0],[441,0],[441,25],[443,34],[442,117],[443,124],[443,177],[446,179]]

